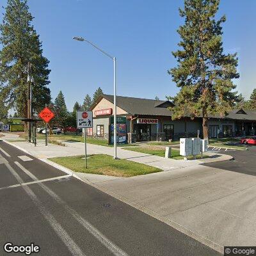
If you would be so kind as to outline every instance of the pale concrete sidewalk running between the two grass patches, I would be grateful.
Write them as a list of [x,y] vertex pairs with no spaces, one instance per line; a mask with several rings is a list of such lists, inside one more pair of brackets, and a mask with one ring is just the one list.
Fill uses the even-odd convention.
[[[2,138],[4,139],[4,138]],[[44,141],[38,141],[38,145],[35,147],[33,143],[27,143],[26,141],[15,141],[13,145],[23,148],[29,154],[41,159],[47,159],[50,157],[64,157],[64,156],[78,156],[84,154],[84,143],[65,141],[67,147],[49,144],[45,146]],[[106,154],[113,156],[113,147],[104,147],[100,145],[87,144],[88,154]],[[209,163],[212,161],[228,160],[232,157],[221,154],[211,154],[211,158],[184,161],[175,159],[165,159],[160,156],[152,156],[141,152],[134,152],[131,150],[125,150],[124,148],[117,148],[117,154],[120,159],[127,159],[136,163],[143,163],[149,166],[154,166],[164,171],[175,170],[178,168],[184,168],[201,163]]]

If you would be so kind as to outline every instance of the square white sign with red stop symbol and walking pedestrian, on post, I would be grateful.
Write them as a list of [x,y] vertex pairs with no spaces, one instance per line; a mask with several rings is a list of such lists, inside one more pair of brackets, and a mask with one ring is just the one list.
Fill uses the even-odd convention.
[[84,129],[84,165],[87,169],[86,128],[93,127],[92,111],[76,111],[76,127]]

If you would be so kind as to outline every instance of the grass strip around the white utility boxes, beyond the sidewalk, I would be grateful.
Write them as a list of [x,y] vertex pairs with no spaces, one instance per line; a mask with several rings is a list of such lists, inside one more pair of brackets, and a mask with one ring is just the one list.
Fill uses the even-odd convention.
[[[141,152],[141,153],[150,154],[154,156],[161,156],[161,157],[165,156],[165,149],[156,149],[156,148],[150,148],[150,147],[134,147],[134,148],[125,148],[125,150]],[[207,158],[207,157],[209,156],[204,156],[204,158]],[[179,149],[172,148],[171,158],[179,160],[179,159],[184,159],[184,156],[180,156]],[[193,159],[193,156],[189,156],[187,158]],[[201,158],[200,155],[196,156],[196,159],[199,159],[199,158]]]

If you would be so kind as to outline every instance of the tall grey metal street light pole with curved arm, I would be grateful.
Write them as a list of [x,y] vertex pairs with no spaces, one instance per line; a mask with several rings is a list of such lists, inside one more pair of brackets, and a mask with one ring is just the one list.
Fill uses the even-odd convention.
[[114,63],[114,159],[118,159],[117,157],[117,150],[116,150],[116,58],[108,54],[107,52],[104,52],[102,49],[97,47],[97,45],[93,44],[92,42],[84,39],[83,37],[73,37],[74,40],[81,41],[81,42],[88,42],[90,45],[98,49],[100,52],[111,58]]

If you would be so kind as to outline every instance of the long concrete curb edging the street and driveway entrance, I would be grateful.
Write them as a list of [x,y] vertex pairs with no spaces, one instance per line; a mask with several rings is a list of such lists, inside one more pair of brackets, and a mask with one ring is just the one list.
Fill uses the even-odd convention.
[[[28,152],[28,150],[25,150],[24,148],[21,148],[21,147],[15,145],[13,143],[10,143],[9,141],[5,141],[5,140],[3,140],[3,141],[8,143],[9,145],[12,145],[15,148],[18,148],[19,150],[22,150],[23,152],[25,152],[26,154],[29,154],[30,156],[36,157],[31,152]],[[61,170],[62,172],[65,172],[69,175],[72,175],[72,177],[74,177],[78,180],[81,180],[82,182],[92,186],[93,188],[97,188],[100,191],[102,191],[102,192],[104,192],[104,193],[106,193],[110,196],[113,196],[114,198],[124,202],[125,204],[131,205],[132,207],[138,209],[139,211],[145,212],[149,216],[152,216],[153,218],[156,218],[157,220],[162,221],[163,223],[166,223],[170,227],[175,228],[179,232],[182,232],[183,234],[186,234],[187,236],[195,239],[196,241],[198,241],[202,244],[205,244],[205,246],[208,246],[208,247],[212,248],[213,250],[216,250],[217,252],[224,253],[224,247],[223,246],[221,246],[220,244],[214,243],[213,241],[211,241],[211,240],[209,240],[205,237],[202,237],[199,234],[196,234],[192,230],[189,230],[188,228],[183,227],[179,223],[176,223],[175,221],[168,220],[164,216],[161,216],[161,215],[157,214],[156,212],[151,211],[150,209],[147,209],[146,207],[138,205],[135,202],[132,202],[131,200],[129,200],[128,198],[125,198],[123,196],[120,196],[120,195],[114,193],[113,191],[109,191],[108,189],[102,188],[102,187],[94,184],[93,182],[90,182],[90,180],[88,180],[86,178],[82,179],[75,172],[73,172],[72,170],[70,170],[70,169],[68,169],[64,166],[61,166],[60,164],[56,164],[56,163],[54,163],[54,162],[52,162],[48,159],[42,159],[42,158],[38,158],[38,157],[36,157],[36,158],[39,159],[40,161],[44,162],[44,163],[50,164],[51,166],[57,168],[58,170]]]

